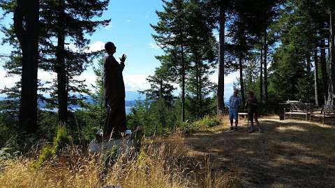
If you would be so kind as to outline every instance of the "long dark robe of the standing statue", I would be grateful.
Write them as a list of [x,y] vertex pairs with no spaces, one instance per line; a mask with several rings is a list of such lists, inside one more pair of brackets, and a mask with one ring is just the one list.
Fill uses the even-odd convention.
[[110,135],[113,132],[126,131],[126,109],[124,97],[124,78],[122,71],[124,63],[118,63],[114,56],[105,57],[103,72],[103,84],[105,86],[105,104],[107,116],[105,118],[104,134]]

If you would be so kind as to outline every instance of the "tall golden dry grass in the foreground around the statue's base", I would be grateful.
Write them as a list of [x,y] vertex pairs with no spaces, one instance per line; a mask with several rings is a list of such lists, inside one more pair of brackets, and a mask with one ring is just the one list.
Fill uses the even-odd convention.
[[38,159],[8,159],[0,162],[0,187],[239,187],[234,174],[214,173],[208,160],[199,168],[199,162],[185,157],[190,148],[180,134],[172,139],[173,143],[147,139],[139,155],[121,155],[107,169],[101,156],[85,155],[74,147],[39,168],[33,167]]

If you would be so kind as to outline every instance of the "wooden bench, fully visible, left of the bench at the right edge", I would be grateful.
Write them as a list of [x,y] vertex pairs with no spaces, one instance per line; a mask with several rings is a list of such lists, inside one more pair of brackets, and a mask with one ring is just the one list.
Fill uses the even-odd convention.
[[311,103],[291,103],[290,108],[284,108],[284,120],[288,115],[289,118],[293,115],[305,116],[305,120],[308,120],[308,116],[311,114],[313,104]]

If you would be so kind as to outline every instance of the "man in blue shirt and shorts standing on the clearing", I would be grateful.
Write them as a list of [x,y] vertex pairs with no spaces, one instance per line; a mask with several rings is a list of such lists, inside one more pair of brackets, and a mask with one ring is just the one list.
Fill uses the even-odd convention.
[[[239,97],[239,91],[235,88],[234,94],[229,99],[229,119],[230,119],[230,130],[237,130],[237,124],[239,123],[239,106],[241,106],[241,98]],[[233,127],[233,119],[235,119],[235,127]]]

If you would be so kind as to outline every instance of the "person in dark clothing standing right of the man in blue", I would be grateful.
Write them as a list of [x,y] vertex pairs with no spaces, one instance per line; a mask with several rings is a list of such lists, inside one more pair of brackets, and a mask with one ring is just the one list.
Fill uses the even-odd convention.
[[258,122],[258,100],[253,91],[249,91],[248,99],[246,100],[246,107],[248,108],[248,119],[251,122],[251,130],[249,130],[249,132],[254,132],[253,120],[255,120],[258,127],[258,132],[262,132],[262,128]]

